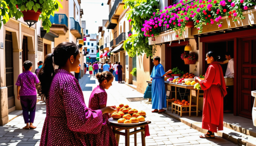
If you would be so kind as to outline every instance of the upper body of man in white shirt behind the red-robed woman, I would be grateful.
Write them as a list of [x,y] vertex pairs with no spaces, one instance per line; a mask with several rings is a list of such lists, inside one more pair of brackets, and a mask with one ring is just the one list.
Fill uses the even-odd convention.
[[225,56],[226,56],[227,60],[225,60],[223,62],[219,62],[219,64],[226,64],[226,63],[228,63],[228,67],[227,67],[227,71],[226,71],[225,76],[234,78],[234,75],[235,75],[235,71],[234,71],[234,69],[235,69],[235,62],[234,62],[234,59],[232,58],[232,54],[227,52],[225,54]]

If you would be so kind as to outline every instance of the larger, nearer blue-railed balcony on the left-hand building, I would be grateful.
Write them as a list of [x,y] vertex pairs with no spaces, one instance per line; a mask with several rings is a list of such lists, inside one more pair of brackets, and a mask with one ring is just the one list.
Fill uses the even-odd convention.
[[68,17],[66,14],[54,14],[50,16],[51,31],[58,35],[65,35],[68,31]]

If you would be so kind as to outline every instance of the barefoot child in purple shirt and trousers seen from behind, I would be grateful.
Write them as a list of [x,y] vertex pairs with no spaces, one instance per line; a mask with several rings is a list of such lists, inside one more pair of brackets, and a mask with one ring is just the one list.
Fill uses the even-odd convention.
[[25,70],[18,76],[17,85],[17,99],[20,100],[23,110],[23,118],[27,124],[23,129],[35,129],[33,126],[35,113],[36,113],[36,84],[39,83],[39,79],[35,73],[31,73],[32,62],[25,61],[23,63],[23,69]]

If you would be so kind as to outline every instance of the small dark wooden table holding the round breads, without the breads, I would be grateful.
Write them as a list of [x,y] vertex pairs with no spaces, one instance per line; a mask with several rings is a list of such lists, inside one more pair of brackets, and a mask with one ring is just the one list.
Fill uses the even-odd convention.
[[[151,123],[151,121],[147,121],[147,122],[139,124],[139,125],[123,126],[123,125],[117,125],[117,124],[108,122],[108,124],[113,128],[113,132],[116,136],[117,145],[119,144],[120,135],[123,135],[123,136],[125,136],[125,146],[130,146],[130,135],[132,135],[132,134],[134,134],[134,145],[137,145],[137,133],[138,132],[141,132],[142,146],[146,146],[145,136],[144,136],[143,131],[145,131],[145,126],[150,123]],[[138,127],[140,127],[140,129],[137,130]],[[130,132],[130,129],[134,129],[134,131]],[[122,130],[125,130],[125,132],[120,132]]]

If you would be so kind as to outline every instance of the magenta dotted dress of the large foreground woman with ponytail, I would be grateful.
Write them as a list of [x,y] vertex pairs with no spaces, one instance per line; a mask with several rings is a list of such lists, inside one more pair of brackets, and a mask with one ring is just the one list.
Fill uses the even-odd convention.
[[100,110],[86,107],[82,90],[72,73],[56,70],[46,100],[46,118],[40,146],[90,146],[103,121]]

